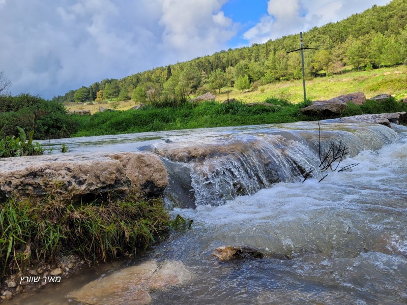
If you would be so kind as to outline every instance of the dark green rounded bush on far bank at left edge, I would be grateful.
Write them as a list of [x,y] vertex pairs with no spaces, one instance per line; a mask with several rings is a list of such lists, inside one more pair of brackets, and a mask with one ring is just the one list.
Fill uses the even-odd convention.
[[60,103],[29,94],[0,96],[0,126],[4,126],[3,133],[19,136],[17,124],[25,133],[34,130],[36,139],[65,138],[76,131],[76,121]]

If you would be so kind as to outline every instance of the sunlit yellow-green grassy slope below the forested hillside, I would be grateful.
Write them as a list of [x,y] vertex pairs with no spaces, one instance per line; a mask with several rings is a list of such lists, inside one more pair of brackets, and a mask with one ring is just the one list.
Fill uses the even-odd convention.
[[[402,74],[395,74],[400,71]],[[390,73],[384,75],[384,73]],[[367,98],[380,93],[396,95],[396,98],[407,96],[407,67],[375,69],[362,72],[347,72],[331,77],[317,77],[306,81],[307,98],[310,100],[328,100],[338,95],[363,92]],[[261,93],[261,88],[264,92]],[[282,81],[260,86],[256,91],[242,93],[235,88],[229,88],[229,99],[236,98],[243,102],[263,102],[270,96],[288,99],[294,103],[303,100],[302,80]],[[221,89],[216,95],[217,101],[227,99],[227,88]],[[99,111],[99,106],[112,108],[110,102],[95,105],[67,104],[68,110],[89,109],[91,113]],[[117,110],[127,110],[134,106],[133,101],[119,102]]]

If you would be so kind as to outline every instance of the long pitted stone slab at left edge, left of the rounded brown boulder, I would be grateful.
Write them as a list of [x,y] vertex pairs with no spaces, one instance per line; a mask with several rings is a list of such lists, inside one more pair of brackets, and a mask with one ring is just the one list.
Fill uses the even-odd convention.
[[35,202],[54,194],[73,201],[93,201],[110,193],[125,197],[130,188],[122,164],[102,156],[20,157],[0,168],[0,197],[30,197]]

